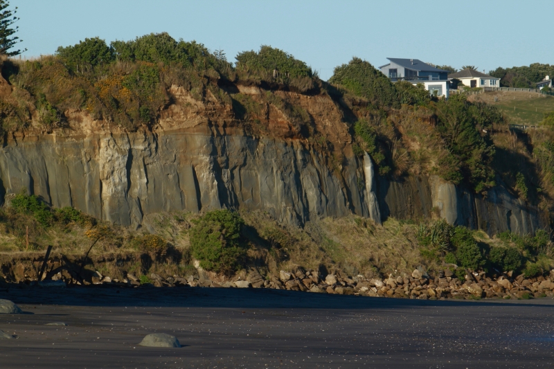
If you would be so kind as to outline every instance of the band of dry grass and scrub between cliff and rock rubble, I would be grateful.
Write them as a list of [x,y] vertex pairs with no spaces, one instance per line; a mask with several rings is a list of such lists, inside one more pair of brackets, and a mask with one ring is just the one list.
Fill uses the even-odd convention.
[[[45,224],[42,212],[50,214]],[[115,278],[123,278],[123,271],[138,276],[197,273],[195,260],[204,270],[226,277],[253,267],[262,274],[302,267],[325,275],[339,271],[382,278],[418,268],[438,271],[445,263],[453,269],[455,264],[460,273],[513,270],[535,276],[554,266],[544,231],[533,237],[506,232],[491,239],[444,221],[415,224],[389,218],[376,225],[354,215],[297,228],[282,226],[260,211],[231,210],[147,218],[152,233],[99,222],[73,208],[51,208],[21,193],[0,212],[0,263],[15,253],[44,253],[50,244],[53,255],[66,260],[80,260],[93,246],[89,267],[98,264],[99,270],[101,265],[101,273]]]

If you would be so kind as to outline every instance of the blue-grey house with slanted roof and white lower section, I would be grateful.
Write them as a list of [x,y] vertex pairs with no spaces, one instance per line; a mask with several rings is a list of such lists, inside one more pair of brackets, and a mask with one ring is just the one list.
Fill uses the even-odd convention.
[[379,66],[379,69],[392,82],[404,80],[414,85],[423,84],[430,93],[448,98],[448,71],[435,68],[418,59],[387,59],[390,63]]

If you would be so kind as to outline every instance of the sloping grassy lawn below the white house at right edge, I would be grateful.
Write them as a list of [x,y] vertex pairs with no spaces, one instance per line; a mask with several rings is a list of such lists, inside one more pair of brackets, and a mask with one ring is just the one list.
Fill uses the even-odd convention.
[[496,105],[510,118],[512,124],[538,125],[544,113],[554,110],[554,96],[544,97],[538,93],[492,91],[470,98]]

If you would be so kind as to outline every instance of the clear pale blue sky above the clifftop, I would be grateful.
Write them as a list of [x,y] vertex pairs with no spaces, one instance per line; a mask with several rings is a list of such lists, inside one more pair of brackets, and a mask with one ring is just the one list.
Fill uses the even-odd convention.
[[[352,56],[374,66],[386,57],[490,71],[533,62],[554,64],[551,0],[10,0],[18,6],[19,46],[27,56],[98,36],[107,42],[166,31],[212,51],[262,44],[281,48],[327,80]],[[541,20],[542,19],[542,20]],[[539,26],[542,22],[545,26]]]

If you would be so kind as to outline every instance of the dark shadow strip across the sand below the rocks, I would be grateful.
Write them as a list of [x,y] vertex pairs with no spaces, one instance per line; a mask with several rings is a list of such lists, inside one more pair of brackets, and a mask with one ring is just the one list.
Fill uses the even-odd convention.
[[554,308],[554,300],[410,300],[314,294],[278,289],[209,287],[68,287],[9,289],[0,298],[17,304],[68,306],[231,307],[240,309],[416,309],[420,307],[540,307]]

